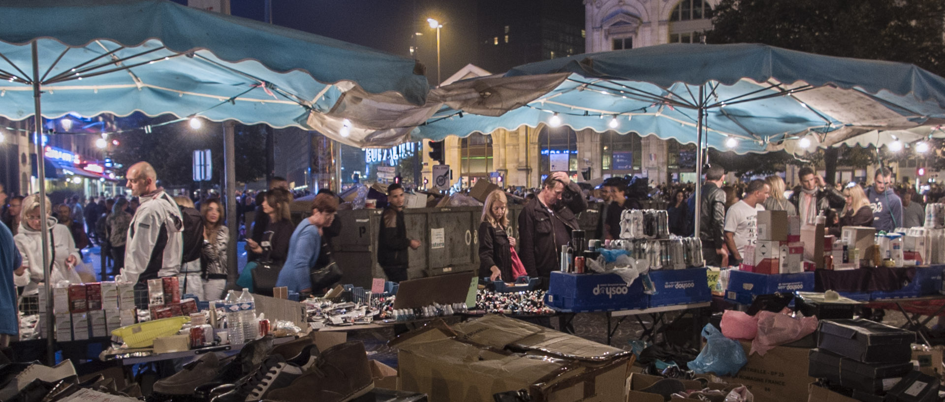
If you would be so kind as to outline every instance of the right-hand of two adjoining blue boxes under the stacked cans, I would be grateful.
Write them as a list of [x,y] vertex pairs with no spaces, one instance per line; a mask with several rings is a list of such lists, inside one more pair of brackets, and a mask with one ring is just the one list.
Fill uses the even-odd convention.
[[675,306],[712,301],[706,271],[706,268],[650,271],[649,277],[656,293],[649,295],[648,306]]

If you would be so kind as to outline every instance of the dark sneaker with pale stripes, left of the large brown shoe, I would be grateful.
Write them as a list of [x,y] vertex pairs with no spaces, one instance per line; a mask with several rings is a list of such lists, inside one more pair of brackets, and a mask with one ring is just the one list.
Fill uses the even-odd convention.
[[[307,358],[309,361],[307,364],[312,365],[318,359],[315,355],[307,356]],[[258,401],[265,398],[272,390],[287,387],[294,379],[301,377],[304,370],[308,368],[293,361],[286,361],[282,355],[269,356],[249,377],[241,379],[230,392],[215,396],[212,402]]]

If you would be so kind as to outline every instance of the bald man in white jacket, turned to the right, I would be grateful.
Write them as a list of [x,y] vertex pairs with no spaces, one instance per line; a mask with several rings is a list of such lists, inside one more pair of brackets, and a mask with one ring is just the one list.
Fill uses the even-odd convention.
[[180,273],[182,239],[180,209],[174,199],[158,187],[158,175],[147,162],[138,162],[128,169],[131,194],[141,206],[128,227],[125,267],[115,280],[145,283],[147,279],[177,276]]

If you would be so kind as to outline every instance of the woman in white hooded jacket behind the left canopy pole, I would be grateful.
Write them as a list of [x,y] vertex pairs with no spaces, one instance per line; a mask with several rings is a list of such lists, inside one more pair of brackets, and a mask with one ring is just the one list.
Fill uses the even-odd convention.
[[49,229],[46,235],[49,241],[49,259],[52,262],[51,283],[55,286],[62,280],[70,283],[81,283],[82,279],[76,273],[76,264],[81,257],[76,249],[76,242],[72,239],[69,228],[58,224],[56,218],[50,216],[52,205],[49,198],[39,194],[27,196],[23,200],[23,209],[20,219],[20,231],[13,237],[20,254],[23,255],[23,266],[26,272],[23,275],[14,275],[17,286],[26,286],[24,294],[39,293],[39,283],[43,282],[43,238],[41,236],[40,200],[46,203],[46,216]]

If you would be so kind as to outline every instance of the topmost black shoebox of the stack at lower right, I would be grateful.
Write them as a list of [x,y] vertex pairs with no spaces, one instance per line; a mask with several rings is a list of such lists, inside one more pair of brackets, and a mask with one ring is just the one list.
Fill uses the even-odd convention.
[[902,363],[912,356],[916,333],[868,320],[828,320],[817,327],[817,347],[867,363]]

